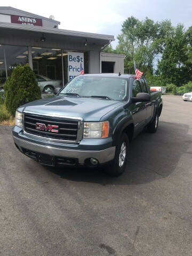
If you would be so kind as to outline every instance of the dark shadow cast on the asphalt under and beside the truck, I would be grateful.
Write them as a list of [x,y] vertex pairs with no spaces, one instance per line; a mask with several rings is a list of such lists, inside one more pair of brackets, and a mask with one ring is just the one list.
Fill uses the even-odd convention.
[[191,145],[188,126],[159,122],[156,134],[142,132],[130,145],[126,171],[113,178],[101,169],[85,167],[45,167],[63,179],[100,183],[101,185],[131,185],[148,183],[169,176],[177,167],[180,157]]

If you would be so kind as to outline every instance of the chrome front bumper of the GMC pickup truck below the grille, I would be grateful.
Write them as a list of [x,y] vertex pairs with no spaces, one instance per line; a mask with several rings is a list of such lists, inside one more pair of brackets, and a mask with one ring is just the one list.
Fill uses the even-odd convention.
[[36,151],[38,153],[60,156],[60,157],[73,157],[78,158],[79,164],[84,164],[87,158],[96,158],[100,164],[107,163],[114,159],[115,156],[115,147],[109,147],[107,149],[94,151],[94,150],[76,150],[76,149],[66,149],[66,148],[57,148],[52,146],[45,146],[38,143],[30,142],[17,138],[13,135],[13,140],[15,144],[19,147],[20,151],[22,148],[28,149],[31,151]]

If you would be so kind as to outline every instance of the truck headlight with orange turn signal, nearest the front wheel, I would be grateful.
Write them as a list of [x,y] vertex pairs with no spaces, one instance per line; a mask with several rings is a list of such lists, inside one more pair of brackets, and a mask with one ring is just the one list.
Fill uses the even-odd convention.
[[83,138],[107,138],[109,134],[109,122],[85,122]]

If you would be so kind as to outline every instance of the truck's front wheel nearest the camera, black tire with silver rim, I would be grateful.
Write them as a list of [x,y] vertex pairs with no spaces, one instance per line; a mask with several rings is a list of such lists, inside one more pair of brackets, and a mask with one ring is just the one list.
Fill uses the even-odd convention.
[[129,138],[126,133],[122,133],[121,139],[116,146],[113,162],[105,169],[107,174],[118,177],[124,172],[127,163],[128,148]]

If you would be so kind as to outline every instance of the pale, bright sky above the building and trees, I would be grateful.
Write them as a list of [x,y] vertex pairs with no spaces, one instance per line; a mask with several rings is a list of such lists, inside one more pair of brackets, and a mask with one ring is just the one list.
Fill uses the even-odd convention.
[[[5,6],[5,2],[2,2]],[[7,5],[61,22],[59,28],[114,35],[121,33],[127,17],[139,20],[146,17],[154,21],[169,19],[172,25],[183,23],[192,26],[192,1],[190,0],[33,0],[6,2]],[[1,4],[1,6],[3,6]],[[113,47],[117,39],[112,43]]]

